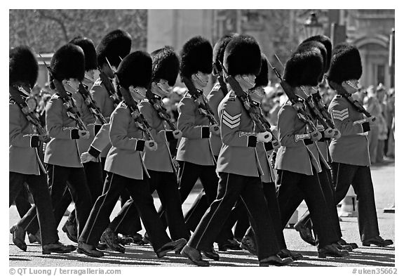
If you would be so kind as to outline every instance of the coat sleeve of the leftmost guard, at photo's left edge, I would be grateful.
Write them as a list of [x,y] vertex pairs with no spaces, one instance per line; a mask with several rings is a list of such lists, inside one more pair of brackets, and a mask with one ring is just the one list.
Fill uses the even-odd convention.
[[29,124],[28,121],[22,121],[22,111],[18,105],[9,105],[9,125],[8,138],[9,144],[15,147],[39,147],[38,136],[24,136],[22,126]]

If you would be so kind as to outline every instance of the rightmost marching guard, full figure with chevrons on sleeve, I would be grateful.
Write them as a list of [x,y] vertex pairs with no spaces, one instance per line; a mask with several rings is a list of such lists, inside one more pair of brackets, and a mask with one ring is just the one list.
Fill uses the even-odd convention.
[[363,107],[351,94],[358,91],[358,80],[362,76],[361,55],[358,48],[350,44],[339,44],[332,50],[328,84],[337,91],[328,110],[341,138],[332,139],[332,182],[335,185],[335,202],[341,202],[352,185],[358,197],[358,226],[363,246],[374,244],[386,247],[391,239],[380,237],[375,206],[370,157],[368,147],[369,121],[374,117],[363,116]]

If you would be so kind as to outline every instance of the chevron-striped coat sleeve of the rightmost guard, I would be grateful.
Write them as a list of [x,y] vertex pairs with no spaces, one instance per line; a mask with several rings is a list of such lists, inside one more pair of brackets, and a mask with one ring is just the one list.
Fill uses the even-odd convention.
[[333,101],[328,107],[335,127],[341,132],[341,136],[350,136],[370,131],[369,122],[366,119],[354,121],[349,114],[349,107],[342,101]]

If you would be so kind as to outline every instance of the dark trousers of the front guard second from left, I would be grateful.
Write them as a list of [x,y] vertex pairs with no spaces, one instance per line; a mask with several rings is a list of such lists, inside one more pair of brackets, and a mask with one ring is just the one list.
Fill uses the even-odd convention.
[[[66,201],[62,201],[67,187],[76,208],[77,229],[80,235],[84,225],[86,225],[91,206],[93,206],[84,169],[46,164],[46,171],[48,171],[48,185],[50,186],[56,225],[60,223],[63,213],[69,206],[68,204],[66,206]],[[36,231],[38,231],[38,223],[32,221],[27,227],[27,232],[35,234]]]

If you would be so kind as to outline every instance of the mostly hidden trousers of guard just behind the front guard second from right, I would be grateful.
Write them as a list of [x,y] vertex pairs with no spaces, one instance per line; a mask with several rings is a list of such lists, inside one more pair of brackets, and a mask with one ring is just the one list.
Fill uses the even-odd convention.
[[[321,162],[321,173],[318,173],[318,179],[320,180],[321,190],[323,190],[323,195],[325,198],[325,202],[328,206],[328,211],[330,212],[330,216],[332,219],[332,226],[337,233],[339,238],[342,237],[341,225],[339,225],[338,211],[337,205],[335,204],[335,189],[334,185],[332,185],[331,178],[331,170],[327,169],[325,165]],[[304,224],[311,223],[311,216],[309,212],[304,213],[302,218],[299,221],[302,221]],[[316,234],[316,229],[314,228],[314,235]]]

